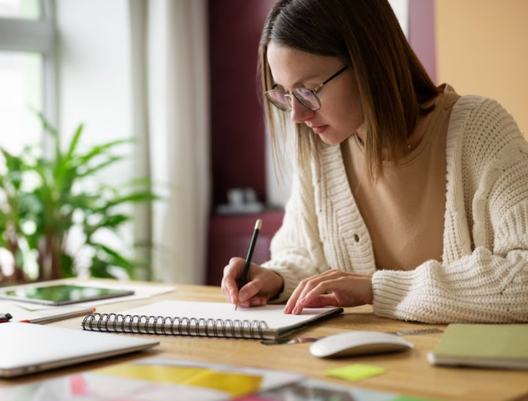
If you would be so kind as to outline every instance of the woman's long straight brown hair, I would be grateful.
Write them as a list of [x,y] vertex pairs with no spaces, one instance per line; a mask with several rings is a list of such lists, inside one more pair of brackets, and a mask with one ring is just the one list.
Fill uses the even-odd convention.
[[[387,0],[277,1],[265,21],[259,47],[263,91],[274,85],[267,63],[270,41],[336,57],[351,67],[363,109],[366,168],[371,180],[383,175],[384,159],[397,163],[404,156],[408,135],[419,115],[434,108],[420,106],[439,92],[412,51]],[[285,135],[291,122],[286,113],[276,111],[267,101],[264,104],[278,160],[278,133]],[[306,150],[311,153],[320,146],[305,124],[295,124],[295,130],[301,157]]]

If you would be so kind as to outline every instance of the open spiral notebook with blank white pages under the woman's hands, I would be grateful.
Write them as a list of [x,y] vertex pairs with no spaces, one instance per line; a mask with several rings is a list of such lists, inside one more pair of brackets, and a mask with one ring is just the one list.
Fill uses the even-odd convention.
[[343,308],[305,308],[301,314],[283,310],[281,305],[234,310],[230,303],[161,301],[119,314],[89,314],[81,325],[99,332],[274,340],[343,312]]

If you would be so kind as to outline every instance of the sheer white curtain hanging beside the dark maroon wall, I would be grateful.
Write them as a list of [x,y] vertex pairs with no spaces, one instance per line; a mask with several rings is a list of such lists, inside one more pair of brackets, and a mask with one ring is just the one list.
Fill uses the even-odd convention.
[[136,214],[136,239],[145,236],[151,221],[154,279],[205,284],[210,199],[207,1],[131,0],[131,21],[134,48],[144,56],[133,57],[136,70],[144,66],[133,78],[137,160],[143,161],[143,171],[150,169],[164,195],[151,216],[144,210]]

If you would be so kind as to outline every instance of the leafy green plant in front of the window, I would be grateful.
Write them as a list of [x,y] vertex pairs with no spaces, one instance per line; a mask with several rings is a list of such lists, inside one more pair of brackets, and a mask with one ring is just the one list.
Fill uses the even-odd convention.
[[[68,249],[74,229],[90,251],[92,277],[115,277],[115,268],[131,276],[138,262],[97,239],[100,231],[118,233],[131,221],[124,206],[157,199],[148,185],[144,189],[145,183],[115,188],[98,179],[102,171],[123,159],[115,149],[131,140],[81,150],[80,124],[63,148],[56,129],[43,115],[39,118],[52,141],[51,156],[36,145],[25,147],[19,155],[0,148],[5,159],[0,172],[0,249],[14,260],[14,272],[0,281],[12,284],[75,276],[78,255]],[[30,263],[38,266],[36,277],[28,277],[25,266]]]

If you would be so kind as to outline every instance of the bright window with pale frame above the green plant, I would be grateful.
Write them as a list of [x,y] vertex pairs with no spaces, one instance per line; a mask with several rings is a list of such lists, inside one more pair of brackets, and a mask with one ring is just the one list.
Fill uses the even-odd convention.
[[0,146],[43,143],[33,111],[56,121],[51,0],[0,0]]

